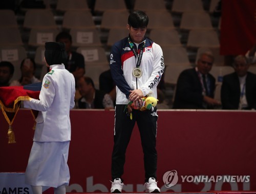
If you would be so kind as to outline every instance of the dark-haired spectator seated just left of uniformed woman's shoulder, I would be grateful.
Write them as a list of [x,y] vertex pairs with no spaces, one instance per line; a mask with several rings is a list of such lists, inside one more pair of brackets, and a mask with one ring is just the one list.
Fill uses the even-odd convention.
[[10,83],[10,86],[27,85],[40,82],[40,80],[34,76],[35,61],[32,58],[23,59],[22,63],[20,63],[20,71],[22,72],[22,77],[20,77],[19,80],[13,80]]

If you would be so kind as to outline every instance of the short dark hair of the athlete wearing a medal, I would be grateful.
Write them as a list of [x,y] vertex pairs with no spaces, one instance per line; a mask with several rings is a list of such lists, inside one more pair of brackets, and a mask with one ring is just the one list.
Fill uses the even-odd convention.
[[133,28],[147,27],[148,16],[143,11],[135,10],[129,15],[128,24]]

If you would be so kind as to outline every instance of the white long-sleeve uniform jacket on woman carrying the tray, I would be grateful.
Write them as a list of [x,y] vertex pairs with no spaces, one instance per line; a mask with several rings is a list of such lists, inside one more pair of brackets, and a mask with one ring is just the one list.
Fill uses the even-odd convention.
[[24,107],[39,111],[34,141],[70,141],[70,109],[75,105],[75,78],[63,64],[52,65],[42,80],[39,100],[24,101]]

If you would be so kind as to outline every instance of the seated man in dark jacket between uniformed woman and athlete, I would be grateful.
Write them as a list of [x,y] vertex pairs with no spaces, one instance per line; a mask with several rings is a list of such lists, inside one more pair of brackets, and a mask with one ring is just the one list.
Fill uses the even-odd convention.
[[114,109],[110,95],[96,90],[90,77],[80,77],[77,80],[77,88],[81,95],[77,102],[78,109]]

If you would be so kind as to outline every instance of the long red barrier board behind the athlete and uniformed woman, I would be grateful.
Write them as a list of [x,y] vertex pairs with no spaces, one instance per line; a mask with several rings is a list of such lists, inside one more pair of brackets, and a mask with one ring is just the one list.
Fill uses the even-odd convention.
[[[158,111],[158,186],[162,192],[256,190],[256,112]],[[67,192],[109,192],[114,111],[72,110],[72,140]],[[29,110],[13,123],[15,144],[8,144],[8,123],[0,114],[0,172],[25,171],[34,125]],[[167,188],[163,176],[176,170]],[[143,153],[137,126],[127,148],[123,191],[144,191]]]

